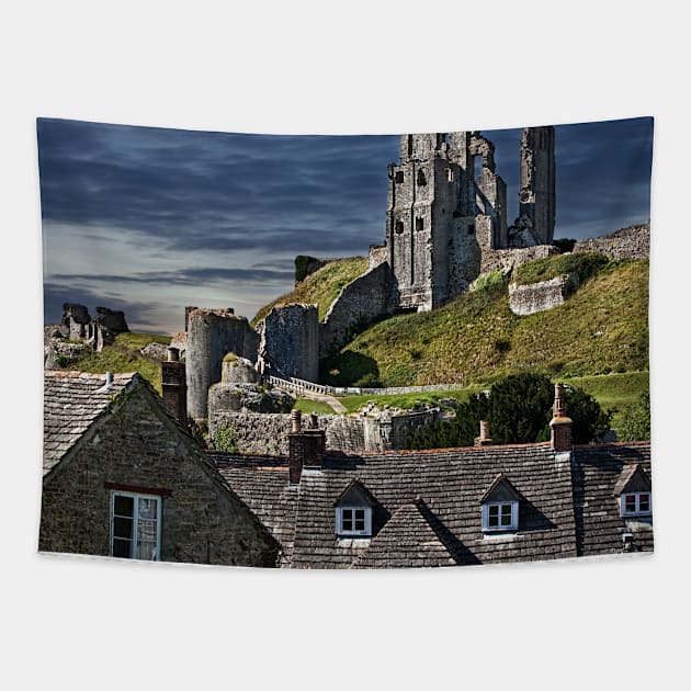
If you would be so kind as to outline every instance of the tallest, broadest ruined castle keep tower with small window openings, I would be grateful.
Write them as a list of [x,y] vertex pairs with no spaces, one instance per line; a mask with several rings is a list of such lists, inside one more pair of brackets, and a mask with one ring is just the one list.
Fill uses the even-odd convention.
[[483,249],[506,246],[506,184],[494,151],[476,132],[401,136],[386,214],[400,308],[429,310],[457,295],[478,275]]

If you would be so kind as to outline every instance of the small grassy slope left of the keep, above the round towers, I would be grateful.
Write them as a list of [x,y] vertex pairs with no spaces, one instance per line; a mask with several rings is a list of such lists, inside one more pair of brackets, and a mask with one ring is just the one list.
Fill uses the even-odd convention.
[[367,270],[366,257],[350,257],[329,262],[315,273],[308,275],[295,290],[281,295],[269,305],[264,305],[251,321],[252,326],[263,319],[275,305],[304,303],[319,305],[319,320],[326,317],[331,303],[338,297],[341,288],[354,281]]

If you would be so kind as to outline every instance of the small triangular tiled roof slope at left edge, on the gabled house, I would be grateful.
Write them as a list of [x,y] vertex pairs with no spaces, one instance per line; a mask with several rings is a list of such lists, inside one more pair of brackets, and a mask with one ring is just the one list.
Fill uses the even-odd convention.
[[105,387],[105,374],[44,371],[43,472],[55,467],[135,378],[136,373],[115,374]]

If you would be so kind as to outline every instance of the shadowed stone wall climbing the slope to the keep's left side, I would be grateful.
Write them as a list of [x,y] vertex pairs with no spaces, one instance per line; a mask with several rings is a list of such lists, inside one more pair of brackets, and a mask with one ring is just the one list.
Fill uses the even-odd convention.
[[394,277],[386,263],[351,281],[319,325],[319,356],[325,358],[343,346],[362,325],[392,314],[396,302]]

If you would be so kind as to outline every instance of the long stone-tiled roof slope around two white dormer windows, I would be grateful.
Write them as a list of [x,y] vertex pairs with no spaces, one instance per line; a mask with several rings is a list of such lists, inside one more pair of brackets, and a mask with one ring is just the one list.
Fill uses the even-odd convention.
[[[328,454],[324,467],[304,471],[295,488],[288,488],[287,469],[237,456],[226,456],[224,465],[222,458],[216,454],[222,475],[284,543],[294,567],[417,566],[426,556],[430,565],[576,556],[570,467],[548,443]],[[519,531],[485,537],[480,500],[500,473],[521,497]],[[355,478],[377,501],[371,541],[336,536],[335,502]],[[403,542],[389,550],[393,537]]]

